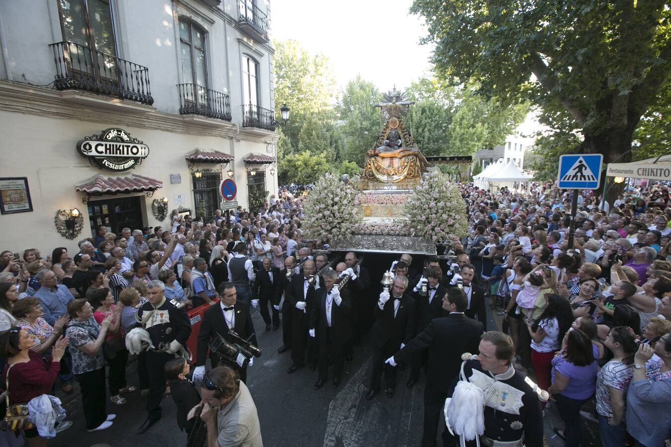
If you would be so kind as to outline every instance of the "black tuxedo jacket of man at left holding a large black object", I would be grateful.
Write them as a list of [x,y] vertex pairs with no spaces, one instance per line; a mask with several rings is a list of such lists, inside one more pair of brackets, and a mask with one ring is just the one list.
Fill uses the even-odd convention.
[[[244,301],[236,302],[234,312],[236,314],[236,322],[233,326],[234,330],[245,340],[251,336],[252,339],[250,340],[250,343],[254,344],[254,346],[258,346],[256,343],[256,332],[254,332],[254,324],[252,323],[252,314],[250,312],[249,303]],[[221,310],[221,304],[219,303],[210,306],[210,308],[203,314],[203,322],[201,323],[201,329],[198,332],[198,347],[196,349],[197,367],[205,365],[207,351],[209,349],[208,344],[215,334],[221,334],[221,336],[229,342],[237,342],[231,338],[231,335],[229,334],[228,325],[223,318],[223,310]],[[219,365],[220,359],[218,355],[210,353],[210,358],[213,365]]]

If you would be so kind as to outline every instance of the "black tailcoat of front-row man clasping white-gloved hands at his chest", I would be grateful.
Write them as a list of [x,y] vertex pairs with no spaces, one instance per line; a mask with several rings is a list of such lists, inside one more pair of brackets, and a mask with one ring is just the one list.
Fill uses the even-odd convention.
[[[350,310],[352,309],[352,299],[347,288],[340,291],[342,302],[340,306],[331,302],[331,342],[335,346],[342,346],[352,338],[352,324],[350,324]],[[315,292],[315,312],[310,315],[310,328],[316,329],[319,346],[325,348],[327,344],[326,330],[326,288],[321,288]],[[325,352],[325,351],[324,351]]]

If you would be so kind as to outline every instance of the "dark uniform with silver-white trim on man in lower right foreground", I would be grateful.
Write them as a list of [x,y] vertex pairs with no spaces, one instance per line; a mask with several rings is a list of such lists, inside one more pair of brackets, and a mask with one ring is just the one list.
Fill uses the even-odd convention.
[[480,436],[480,445],[542,447],[543,416],[539,400],[542,390],[526,375],[515,371],[513,365],[505,373],[493,375],[484,371],[476,358],[462,355],[462,369],[466,380],[484,392],[484,434]]

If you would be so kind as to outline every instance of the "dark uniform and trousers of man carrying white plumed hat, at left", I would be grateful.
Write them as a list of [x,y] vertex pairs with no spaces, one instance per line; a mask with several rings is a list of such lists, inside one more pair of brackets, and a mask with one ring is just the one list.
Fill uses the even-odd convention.
[[[138,327],[149,333],[154,345],[146,355],[149,376],[147,412],[151,420],[158,420],[161,417],[161,399],[166,389],[163,369],[170,359],[184,357],[185,346],[191,335],[191,321],[183,304],[165,298],[156,307],[146,302],[138,309],[137,316]],[[179,350],[173,349],[176,346],[174,341],[181,345],[178,346]]]

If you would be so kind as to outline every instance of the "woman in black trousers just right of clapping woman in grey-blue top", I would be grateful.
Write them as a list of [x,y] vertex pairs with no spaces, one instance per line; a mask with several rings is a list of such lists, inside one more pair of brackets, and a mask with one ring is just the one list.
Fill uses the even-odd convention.
[[126,399],[121,395],[136,390],[135,387],[126,386],[125,367],[128,363],[128,350],[125,348],[123,332],[121,331],[123,305],[114,304],[112,294],[107,288],[93,292],[91,298],[89,298],[89,303],[95,309],[93,318],[98,324],[101,324],[107,316],[112,316],[112,324],[107,329],[105,343],[108,343],[110,350],[115,350],[116,354],[113,357],[108,356],[106,359],[109,366],[109,378],[107,380],[109,381],[109,395],[112,397],[112,402],[123,405],[126,403]]

